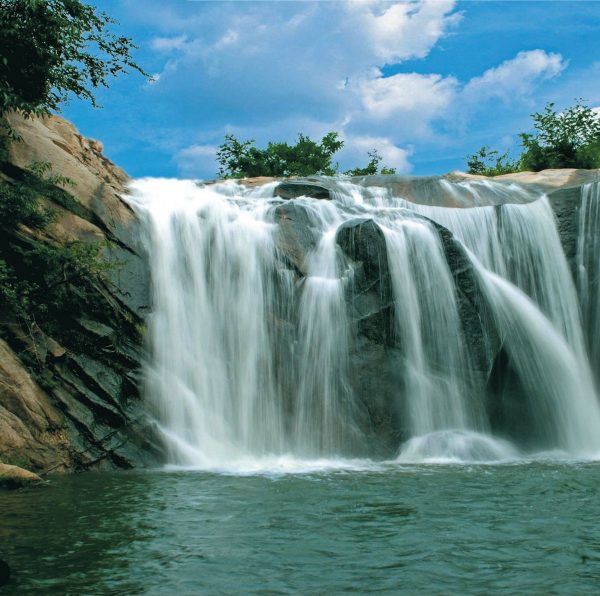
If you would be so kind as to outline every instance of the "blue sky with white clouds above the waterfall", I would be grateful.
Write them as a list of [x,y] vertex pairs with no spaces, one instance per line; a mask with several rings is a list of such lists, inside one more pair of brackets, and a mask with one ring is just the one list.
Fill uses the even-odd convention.
[[600,106],[599,2],[96,2],[155,75],[116,79],[63,110],[132,176],[211,178],[227,133],[319,139],[341,169],[376,148],[399,173],[518,152],[548,101]]

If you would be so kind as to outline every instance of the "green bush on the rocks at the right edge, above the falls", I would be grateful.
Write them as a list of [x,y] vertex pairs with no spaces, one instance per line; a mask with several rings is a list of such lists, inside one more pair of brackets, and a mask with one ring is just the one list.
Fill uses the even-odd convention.
[[519,134],[523,152],[511,160],[508,152],[482,147],[467,158],[470,174],[497,176],[549,168],[600,168],[600,115],[581,100],[563,112],[549,103],[531,115],[534,132]]

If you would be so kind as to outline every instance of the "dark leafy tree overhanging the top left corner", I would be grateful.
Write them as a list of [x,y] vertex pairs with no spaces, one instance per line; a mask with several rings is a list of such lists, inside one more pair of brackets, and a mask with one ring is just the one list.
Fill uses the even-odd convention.
[[71,94],[97,106],[94,92],[110,77],[148,76],[114,24],[80,0],[0,0],[0,115],[46,114]]

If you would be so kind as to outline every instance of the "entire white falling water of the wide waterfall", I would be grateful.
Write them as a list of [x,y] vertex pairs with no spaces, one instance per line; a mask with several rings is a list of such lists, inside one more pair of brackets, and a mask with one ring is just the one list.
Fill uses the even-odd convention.
[[[370,465],[365,404],[350,381],[352,263],[336,244],[338,227],[356,217],[377,222],[387,247],[401,350],[398,461],[505,461],[531,448],[600,453],[577,294],[547,200],[531,202],[518,187],[487,183],[482,195],[477,184],[442,182],[440,193],[461,207],[499,204],[511,192],[518,204],[430,207],[336,181],[332,201],[296,200],[316,237],[303,279],[277,249],[273,210],[284,201],[273,198],[275,184],[133,183],[154,287],[146,392],[172,463],[238,471]],[[484,339],[500,337],[539,445],[493,436],[438,232],[411,210],[463,244],[489,317]],[[587,272],[600,251],[582,247],[579,270]],[[586,320],[597,322],[585,302],[588,279],[580,275],[579,291]]]

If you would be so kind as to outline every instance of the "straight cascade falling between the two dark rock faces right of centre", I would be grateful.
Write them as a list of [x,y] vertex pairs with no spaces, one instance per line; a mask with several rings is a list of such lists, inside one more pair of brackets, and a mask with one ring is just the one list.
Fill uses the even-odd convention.
[[482,417],[469,399],[455,288],[437,233],[427,221],[410,218],[390,219],[383,230],[410,432],[477,428]]

